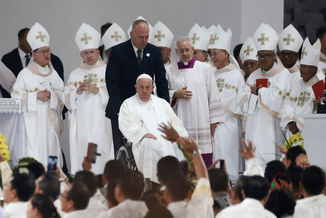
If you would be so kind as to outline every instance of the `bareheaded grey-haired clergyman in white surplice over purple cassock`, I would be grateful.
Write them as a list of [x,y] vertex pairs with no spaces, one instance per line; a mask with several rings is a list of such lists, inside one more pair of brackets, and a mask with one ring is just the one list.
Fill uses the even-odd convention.
[[182,120],[189,137],[198,143],[206,166],[212,164],[212,137],[216,126],[225,122],[222,103],[206,63],[195,61],[192,41],[180,37],[177,55],[180,61],[166,67],[171,106]]

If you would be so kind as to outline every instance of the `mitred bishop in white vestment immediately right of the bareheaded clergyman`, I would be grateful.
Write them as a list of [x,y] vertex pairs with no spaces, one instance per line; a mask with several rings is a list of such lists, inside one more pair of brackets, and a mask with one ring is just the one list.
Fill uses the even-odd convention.
[[[215,34],[219,40],[215,40],[211,46],[210,57],[216,66],[211,68],[215,76],[216,85],[221,96],[222,106],[225,114],[225,124],[216,128],[215,157],[224,159],[227,171],[231,179],[238,178],[240,155],[238,152],[241,139],[241,119],[247,117],[241,111],[236,101],[239,89],[244,85],[243,76],[236,64],[230,63],[230,57],[236,63],[233,56],[229,54],[231,44],[231,30],[227,32],[219,25]],[[242,170],[241,170],[242,172]]]

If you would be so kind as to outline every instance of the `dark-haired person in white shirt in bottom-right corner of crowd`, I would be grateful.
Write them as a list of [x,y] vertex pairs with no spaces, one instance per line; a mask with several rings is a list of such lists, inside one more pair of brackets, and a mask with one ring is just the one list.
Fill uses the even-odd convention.
[[296,201],[294,218],[326,217],[325,173],[318,166],[309,166],[301,174],[300,188],[304,199]]

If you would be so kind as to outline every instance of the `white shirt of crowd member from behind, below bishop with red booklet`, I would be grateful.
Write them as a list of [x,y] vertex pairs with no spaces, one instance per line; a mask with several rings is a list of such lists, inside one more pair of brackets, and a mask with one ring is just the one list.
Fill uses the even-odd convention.
[[229,206],[216,215],[216,218],[276,218],[256,199],[246,198],[240,204]]

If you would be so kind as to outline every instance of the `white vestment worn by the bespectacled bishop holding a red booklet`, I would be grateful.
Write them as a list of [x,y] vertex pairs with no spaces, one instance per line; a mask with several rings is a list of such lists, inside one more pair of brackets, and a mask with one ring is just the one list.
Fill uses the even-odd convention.
[[[257,95],[251,93],[257,79],[268,79],[268,88],[262,87],[258,91],[258,101]],[[252,72],[246,85],[240,89],[240,107],[249,105],[256,97],[254,112],[247,114],[246,141],[249,139],[256,146],[256,157],[263,168],[267,162],[276,159],[275,143],[283,144],[281,112],[290,92],[289,71],[279,60],[268,72],[263,72],[261,68]]]

